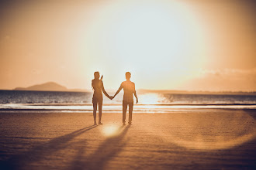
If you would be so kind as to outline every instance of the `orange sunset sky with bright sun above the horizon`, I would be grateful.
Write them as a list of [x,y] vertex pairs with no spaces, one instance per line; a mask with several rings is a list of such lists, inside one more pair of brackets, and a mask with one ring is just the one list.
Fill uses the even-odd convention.
[[0,89],[256,90],[253,0],[0,2]]

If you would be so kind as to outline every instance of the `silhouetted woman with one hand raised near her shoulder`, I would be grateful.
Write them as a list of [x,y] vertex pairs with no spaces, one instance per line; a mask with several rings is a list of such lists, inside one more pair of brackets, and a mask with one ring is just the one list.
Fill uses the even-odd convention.
[[[92,97],[92,104],[93,104],[93,118],[94,118],[94,124],[96,125],[96,111],[97,111],[97,105],[99,104],[99,124],[102,124],[102,91],[106,95],[106,97],[109,97],[109,94],[106,93],[106,90],[104,89],[102,78],[99,80],[99,72],[94,73],[94,80],[92,80],[92,89],[94,90],[93,97]],[[109,97],[109,99],[111,99]]]

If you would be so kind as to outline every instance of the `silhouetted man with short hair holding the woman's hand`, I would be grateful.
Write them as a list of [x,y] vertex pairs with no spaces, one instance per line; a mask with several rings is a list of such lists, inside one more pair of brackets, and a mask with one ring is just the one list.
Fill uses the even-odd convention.
[[126,110],[127,106],[129,106],[129,124],[132,124],[132,114],[133,114],[133,94],[137,99],[138,103],[138,97],[135,90],[135,83],[130,81],[130,72],[126,72],[126,81],[123,81],[121,83],[121,86],[116,91],[115,95],[112,97],[116,97],[116,95],[119,93],[120,90],[123,89],[123,125],[126,124]]

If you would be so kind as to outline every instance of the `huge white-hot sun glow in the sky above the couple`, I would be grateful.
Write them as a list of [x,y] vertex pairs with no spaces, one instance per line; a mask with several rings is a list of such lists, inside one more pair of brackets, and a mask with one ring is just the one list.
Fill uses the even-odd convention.
[[[159,88],[157,80],[167,74],[178,86],[205,63],[199,21],[178,1],[116,1],[95,10],[87,25],[86,48],[94,63],[89,70],[115,74],[116,82],[106,80],[109,84],[123,80],[119,77],[130,70],[140,74],[134,77],[139,88]],[[140,82],[142,78],[156,81],[148,84]],[[161,88],[170,87],[161,84]]]

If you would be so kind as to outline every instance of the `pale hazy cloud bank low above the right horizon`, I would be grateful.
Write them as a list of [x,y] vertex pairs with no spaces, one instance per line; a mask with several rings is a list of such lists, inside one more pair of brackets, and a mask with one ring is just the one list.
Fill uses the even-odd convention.
[[256,67],[251,70],[201,70],[185,83],[189,90],[256,91]]

